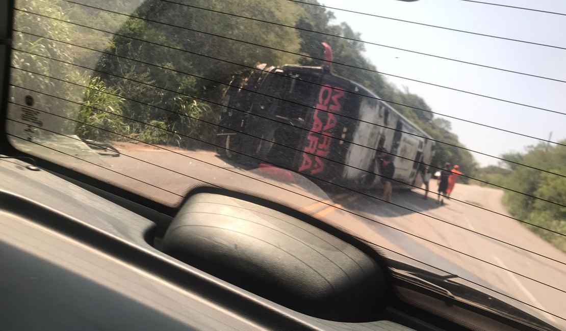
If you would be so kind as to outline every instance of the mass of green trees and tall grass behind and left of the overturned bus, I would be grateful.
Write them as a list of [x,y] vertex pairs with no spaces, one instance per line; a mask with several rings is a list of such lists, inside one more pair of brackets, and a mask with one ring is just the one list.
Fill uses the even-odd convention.
[[[421,97],[397,89],[378,73],[353,68],[376,70],[365,58],[362,42],[306,31],[360,38],[348,24],[335,24],[332,12],[323,7],[285,0],[195,0],[190,6],[160,0],[146,0],[139,6],[108,0],[104,3],[108,11],[60,0],[20,0],[17,6],[24,10],[16,12],[16,29],[61,41],[16,33],[16,48],[32,54],[14,52],[16,67],[45,75],[20,71],[16,72],[16,82],[61,98],[38,97],[40,102],[55,103],[53,109],[71,119],[64,123],[52,119],[49,129],[58,132],[93,140],[121,139],[108,132],[112,131],[149,143],[211,148],[207,142],[213,141],[212,124],[220,116],[217,104],[222,102],[221,95],[233,74],[245,69],[242,65],[318,66],[319,59],[297,54],[321,58],[324,41],[332,46],[335,62],[349,65],[336,64],[333,71],[338,75],[393,102],[395,108],[435,140],[460,146],[448,121],[415,109],[431,110]],[[31,14],[40,12],[40,8],[57,20]],[[274,27],[220,12],[300,29]],[[62,128],[65,129],[61,131]],[[439,143],[432,164],[439,166],[447,161],[460,164],[466,175],[474,175],[475,162],[470,153]]]

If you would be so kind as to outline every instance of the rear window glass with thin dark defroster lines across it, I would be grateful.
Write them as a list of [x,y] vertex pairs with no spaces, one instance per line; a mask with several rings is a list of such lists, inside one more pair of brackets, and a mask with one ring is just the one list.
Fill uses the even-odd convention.
[[561,328],[566,7],[525,6],[18,0],[8,138],[164,206],[261,194]]

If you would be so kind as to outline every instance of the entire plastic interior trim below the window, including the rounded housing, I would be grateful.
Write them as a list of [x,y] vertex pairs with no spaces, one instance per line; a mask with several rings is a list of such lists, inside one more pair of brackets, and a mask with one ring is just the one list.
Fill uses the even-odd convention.
[[378,251],[275,202],[196,188],[169,217],[24,160],[0,174],[3,330],[469,329],[399,300],[456,309],[398,287]]

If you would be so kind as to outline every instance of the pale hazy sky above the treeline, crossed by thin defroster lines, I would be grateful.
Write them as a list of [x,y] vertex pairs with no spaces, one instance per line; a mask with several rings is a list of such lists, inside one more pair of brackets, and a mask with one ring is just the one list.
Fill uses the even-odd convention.
[[[535,8],[566,14],[564,0],[482,0],[484,2]],[[320,0],[328,7],[363,11],[463,31],[513,38],[565,47],[566,16],[508,7],[484,5],[461,0]],[[424,27],[395,20],[354,14],[340,10],[336,21],[348,23],[360,32],[362,40],[401,49],[434,54],[444,58],[504,68],[531,75],[566,81],[566,49],[477,36],[474,34]],[[381,73],[430,82],[437,85],[488,95],[566,113],[566,83],[516,73],[482,68],[427,55],[366,44],[366,57]],[[422,84],[385,75],[398,88],[406,86],[421,96],[438,114],[458,117],[552,141],[566,139],[566,115],[477,95]],[[471,150],[501,156],[509,151],[524,151],[539,141],[517,134],[450,119],[452,130]],[[498,159],[473,153],[481,164],[498,164]]]

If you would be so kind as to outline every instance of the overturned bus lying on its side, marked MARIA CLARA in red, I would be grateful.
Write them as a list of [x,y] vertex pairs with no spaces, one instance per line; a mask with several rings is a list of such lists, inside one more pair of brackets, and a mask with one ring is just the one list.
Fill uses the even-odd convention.
[[218,153],[341,185],[378,185],[376,150],[396,182],[420,186],[434,141],[389,104],[328,67],[282,66],[235,75],[224,95]]

